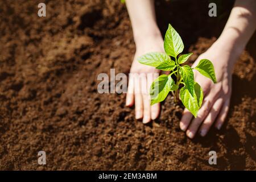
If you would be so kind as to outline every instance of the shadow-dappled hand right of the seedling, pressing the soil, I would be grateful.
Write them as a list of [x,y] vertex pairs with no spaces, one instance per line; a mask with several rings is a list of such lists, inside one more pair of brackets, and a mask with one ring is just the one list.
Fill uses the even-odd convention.
[[199,83],[204,92],[204,101],[197,113],[197,118],[193,118],[190,111],[184,110],[180,121],[180,129],[186,131],[189,138],[194,138],[197,131],[204,137],[214,121],[215,127],[221,129],[229,110],[229,103],[232,90],[232,68],[234,59],[239,53],[226,51],[218,43],[213,44],[207,52],[198,57],[192,68],[196,67],[201,59],[212,61],[216,73],[217,83],[204,77],[196,70],[194,71],[195,81]]

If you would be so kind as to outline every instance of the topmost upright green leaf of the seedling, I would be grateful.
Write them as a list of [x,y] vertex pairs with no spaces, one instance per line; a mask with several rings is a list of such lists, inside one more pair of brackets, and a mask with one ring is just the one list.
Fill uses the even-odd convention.
[[184,45],[180,35],[176,30],[169,24],[166,36],[164,36],[164,51],[167,55],[177,57],[184,49]]

